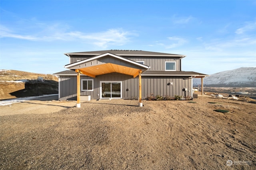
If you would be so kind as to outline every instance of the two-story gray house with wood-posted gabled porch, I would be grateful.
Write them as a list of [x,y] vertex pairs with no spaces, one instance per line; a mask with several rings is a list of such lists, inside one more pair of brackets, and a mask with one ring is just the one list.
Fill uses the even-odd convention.
[[[182,71],[185,55],[140,50],[65,53],[68,70],[57,72],[59,100],[141,99],[151,95],[193,96],[193,78],[208,76]],[[202,81],[203,84],[203,81]],[[78,96],[78,97],[77,97]]]

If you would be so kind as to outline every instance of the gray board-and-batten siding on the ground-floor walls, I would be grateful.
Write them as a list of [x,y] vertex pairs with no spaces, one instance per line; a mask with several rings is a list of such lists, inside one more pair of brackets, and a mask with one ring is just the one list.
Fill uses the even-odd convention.
[[[122,98],[138,97],[138,77],[120,73],[109,73],[96,76],[92,78],[90,76],[80,76],[80,79],[92,79],[94,80],[93,91],[80,90],[80,96],[91,96],[91,99],[100,99],[100,82],[101,81],[120,81],[122,82]],[[76,100],[76,75],[60,76],[59,88],[62,89],[59,92],[59,100]],[[172,82],[172,85],[168,85]],[[183,88],[190,90],[184,91]],[[192,96],[192,78],[191,76],[142,76],[142,99],[153,96]],[[186,94],[185,94],[186,93]]]

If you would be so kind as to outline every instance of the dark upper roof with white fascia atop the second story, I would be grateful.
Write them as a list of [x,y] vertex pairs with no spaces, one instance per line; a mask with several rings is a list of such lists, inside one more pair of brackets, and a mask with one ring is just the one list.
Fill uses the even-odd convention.
[[179,58],[186,57],[186,55],[158,53],[158,52],[142,51],[142,50],[104,50],[104,51],[87,51],[87,52],[64,53],[64,54],[70,57],[70,55],[101,55],[104,53],[112,53],[119,56],[179,57]]

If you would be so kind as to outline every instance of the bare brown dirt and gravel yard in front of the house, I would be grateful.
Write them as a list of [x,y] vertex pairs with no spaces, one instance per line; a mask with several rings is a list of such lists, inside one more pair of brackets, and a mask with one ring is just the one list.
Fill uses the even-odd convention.
[[0,106],[0,169],[256,169],[256,104],[189,102]]

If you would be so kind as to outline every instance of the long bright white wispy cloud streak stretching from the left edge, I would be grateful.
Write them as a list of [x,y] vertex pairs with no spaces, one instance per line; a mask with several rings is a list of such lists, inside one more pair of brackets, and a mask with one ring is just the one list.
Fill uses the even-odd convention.
[[[59,29],[60,28],[60,29]],[[101,32],[84,33],[82,31],[67,31],[61,29],[60,24],[50,25],[44,29],[38,29],[37,33],[26,35],[16,30],[1,25],[1,38],[24,39],[28,41],[83,41],[106,48],[109,45],[124,45],[136,34],[132,31],[125,31],[122,28],[108,29]]]

